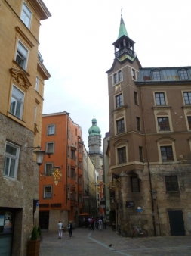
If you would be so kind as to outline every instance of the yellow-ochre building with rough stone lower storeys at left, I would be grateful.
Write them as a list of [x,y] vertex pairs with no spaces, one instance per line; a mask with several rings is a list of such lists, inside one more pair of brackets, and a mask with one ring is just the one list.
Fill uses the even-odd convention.
[[39,167],[44,82],[50,78],[38,52],[45,4],[2,0],[0,8],[0,244],[2,255],[26,255],[38,225]]

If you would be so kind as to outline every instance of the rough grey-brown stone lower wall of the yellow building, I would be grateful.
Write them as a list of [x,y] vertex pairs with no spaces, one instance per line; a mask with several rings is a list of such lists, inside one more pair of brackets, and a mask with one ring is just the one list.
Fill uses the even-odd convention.
[[[33,146],[34,133],[2,114],[0,130],[0,208],[15,209],[13,251],[15,256],[25,256],[33,226],[33,199],[39,198],[39,167],[33,159],[32,148],[26,148]],[[3,176],[6,141],[20,146],[16,180]],[[36,222],[38,218],[37,213]]]

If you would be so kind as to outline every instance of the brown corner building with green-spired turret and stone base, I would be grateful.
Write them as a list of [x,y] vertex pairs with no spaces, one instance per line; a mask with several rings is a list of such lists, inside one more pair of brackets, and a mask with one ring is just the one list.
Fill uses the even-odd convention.
[[108,73],[111,208],[122,233],[191,233],[191,67],[143,68],[123,18]]

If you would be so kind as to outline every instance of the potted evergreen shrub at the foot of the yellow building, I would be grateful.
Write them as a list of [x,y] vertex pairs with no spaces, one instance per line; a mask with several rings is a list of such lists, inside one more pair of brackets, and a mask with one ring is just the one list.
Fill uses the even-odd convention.
[[28,242],[27,256],[39,256],[40,239],[36,226],[33,226],[31,238]]

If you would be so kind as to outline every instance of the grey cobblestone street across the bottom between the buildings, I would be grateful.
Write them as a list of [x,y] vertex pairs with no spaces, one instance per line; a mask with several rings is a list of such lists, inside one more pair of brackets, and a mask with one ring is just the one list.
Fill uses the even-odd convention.
[[[69,233],[63,233],[58,239],[57,232],[44,232],[41,243],[41,256],[91,256],[126,255],[126,256],[185,256],[191,255],[191,236],[163,236],[134,238],[122,237],[108,227],[106,230],[77,228],[73,239]],[[109,247],[109,245],[111,245]]]

